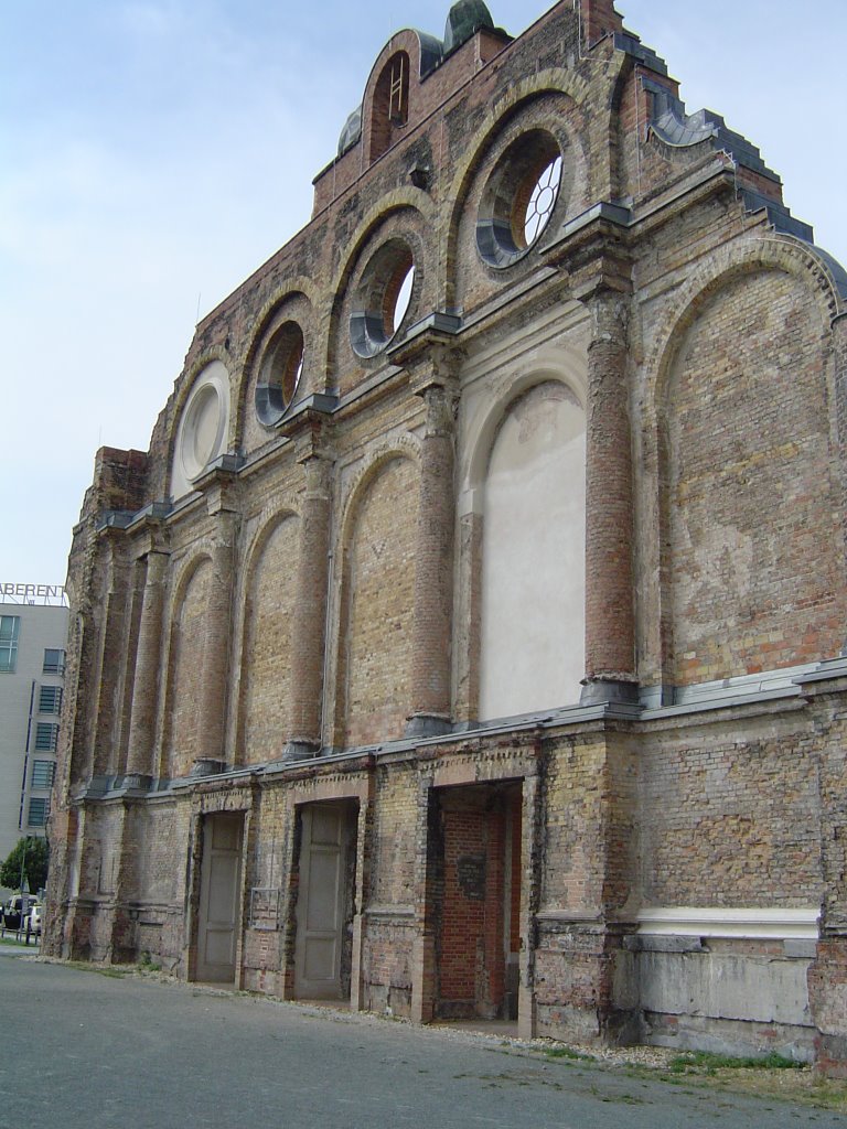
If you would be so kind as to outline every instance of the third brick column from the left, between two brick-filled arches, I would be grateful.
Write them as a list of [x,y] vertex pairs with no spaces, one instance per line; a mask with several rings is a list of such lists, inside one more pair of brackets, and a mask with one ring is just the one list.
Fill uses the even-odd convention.
[[306,490],[300,518],[297,606],[291,656],[291,716],[286,760],[304,760],[321,747],[323,674],[329,585],[332,464],[309,452],[303,460]]

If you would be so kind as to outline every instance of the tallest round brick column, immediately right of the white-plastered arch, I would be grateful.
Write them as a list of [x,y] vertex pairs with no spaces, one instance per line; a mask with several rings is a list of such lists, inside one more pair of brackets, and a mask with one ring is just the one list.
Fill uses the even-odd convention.
[[585,680],[582,701],[637,701],[632,606],[632,453],[627,402],[627,299],[587,299]]

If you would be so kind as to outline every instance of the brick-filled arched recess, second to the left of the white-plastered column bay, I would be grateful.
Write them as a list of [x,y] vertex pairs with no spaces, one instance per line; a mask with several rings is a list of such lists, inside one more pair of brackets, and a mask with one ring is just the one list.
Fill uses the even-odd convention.
[[419,471],[393,450],[363,475],[342,525],[335,744],[401,737],[411,702]]

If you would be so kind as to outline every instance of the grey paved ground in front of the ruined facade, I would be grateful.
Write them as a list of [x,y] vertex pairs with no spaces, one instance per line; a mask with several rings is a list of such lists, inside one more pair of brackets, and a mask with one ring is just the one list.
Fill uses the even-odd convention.
[[2,1129],[847,1126],[463,1033],[15,953],[0,946]]

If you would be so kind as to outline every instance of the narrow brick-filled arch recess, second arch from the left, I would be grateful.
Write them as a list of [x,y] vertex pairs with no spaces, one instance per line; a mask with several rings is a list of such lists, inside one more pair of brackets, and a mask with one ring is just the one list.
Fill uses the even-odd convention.
[[291,624],[299,551],[299,518],[287,511],[264,526],[251,553],[236,745],[242,764],[277,760],[289,736],[291,688],[297,677]]

